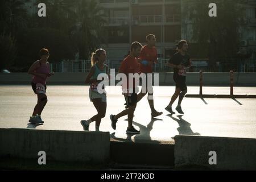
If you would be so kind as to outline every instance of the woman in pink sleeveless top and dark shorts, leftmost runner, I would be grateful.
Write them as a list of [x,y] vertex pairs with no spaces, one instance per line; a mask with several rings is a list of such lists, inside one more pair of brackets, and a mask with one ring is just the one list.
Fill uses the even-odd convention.
[[46,106],[47,96],[46,96],[46,78],[54,75],[54,72],[50,72],[49,63],[47,61],[49,57],[49,51],[43,48],[39,52],[40,60],[35,61],[28,74],[33,75],[31,86],[34,93],[38,95],[38,103],[35,105],[32,117],[30,117],[29,122],[37,124],[44,123],[41,119],[41,113]]

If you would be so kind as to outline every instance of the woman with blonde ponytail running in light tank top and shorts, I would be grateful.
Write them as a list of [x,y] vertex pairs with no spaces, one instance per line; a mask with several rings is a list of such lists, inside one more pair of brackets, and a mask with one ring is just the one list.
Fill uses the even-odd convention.
[[86,120],[81,120],[81,125],[84,127],[85,131],[89,130],[89,125],[91,122],[96,121],[95,130],[100,131],[101,119],[105,117],[106,114],[106,92],[105,86],[104,93],[99,93],[97,89],[98,84],[101,80],[97,80],[100,73],[108,73],[108,67],[104,64],[106,60],[106,51],[104,49],[97,49],[96,52],[92,53],[91,62],[92,67],[86,77],[85,83],[90,84],[89,97],[90,101],[93,102],[94,107],[97,109],[98,114],[94,115],[92,118]]

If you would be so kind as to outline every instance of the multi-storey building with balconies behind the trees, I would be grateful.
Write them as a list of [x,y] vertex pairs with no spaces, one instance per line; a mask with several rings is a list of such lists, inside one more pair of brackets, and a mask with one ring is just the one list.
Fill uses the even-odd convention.
[[[175,53],[176,43],[181,39],[192,42],[192,20],[183,16],[184,0],[96,0],[104,11],[105,36],[108,44],[101,44],[108,53],[110,68],[119,68],[119,64],[128,54],[134,41],[146,44],[146,35],[156,36],[159,64],[156,71],[170,71],[167,61]],[[246,24],[240,28],[243,54],[249,55],[241,60],[239,72],[256,71],[256,0],[241,0],[245,7]],[[37,13],[35,0],[27,3],[31,14]],[[251,55],[251,56],[250,56]],[[193,57],[204,62],[207,57]],[[196,59],[193,63],[196,64]],[[205,59],[205,60],[202,60]],[[205,62],[206,61],[206,62]],[[200,65],[195,65],[200,68]],[[195,70],[193,70],[195,71]],[[197,71],[197,70],[196,70]],[[221,71],[221,70],[220,70]]]

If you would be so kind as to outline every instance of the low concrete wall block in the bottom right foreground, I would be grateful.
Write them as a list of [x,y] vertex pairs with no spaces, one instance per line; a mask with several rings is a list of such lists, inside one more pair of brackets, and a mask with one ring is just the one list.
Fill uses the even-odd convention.
[[[256,139],[175,136],[175,168],[255,170]],[[209,164],[210,151],[216,151],[216,165]]]

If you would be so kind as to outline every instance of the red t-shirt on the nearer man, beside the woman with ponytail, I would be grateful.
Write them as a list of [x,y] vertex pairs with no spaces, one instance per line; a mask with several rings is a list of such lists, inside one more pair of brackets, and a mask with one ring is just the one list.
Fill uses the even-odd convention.
[[[127,89],[136,88],[138,85],[135,85],[135,80],[133,79],[133,87],[129,87],[129,73],[139,73],[138,59],[136,57],[127,56],[121,63],[119,68],[119,73],[125,73],[127,78]],[[123,88],[123,86],[122,86]]]

